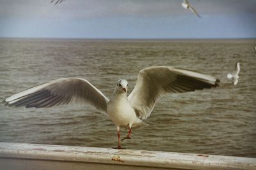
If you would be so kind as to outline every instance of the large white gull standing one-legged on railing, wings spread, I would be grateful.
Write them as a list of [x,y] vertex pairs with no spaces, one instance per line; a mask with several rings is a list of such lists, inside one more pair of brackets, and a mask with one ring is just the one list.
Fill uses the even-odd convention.
[[124,139],[131,139],[132,127],[145,127],[157,101],[169,93],[192,92],[217,87],[220,80],[207,74],[168,66],[141,69],[136,85],[127,96],[128,81],[120,79],[110,99],[82,78],[60,78],[24,90],[4,99],[5,106],[49,108],[61,104],[90,104],[108,115],[116,126],[118,146],[120,127],[129,129]]

